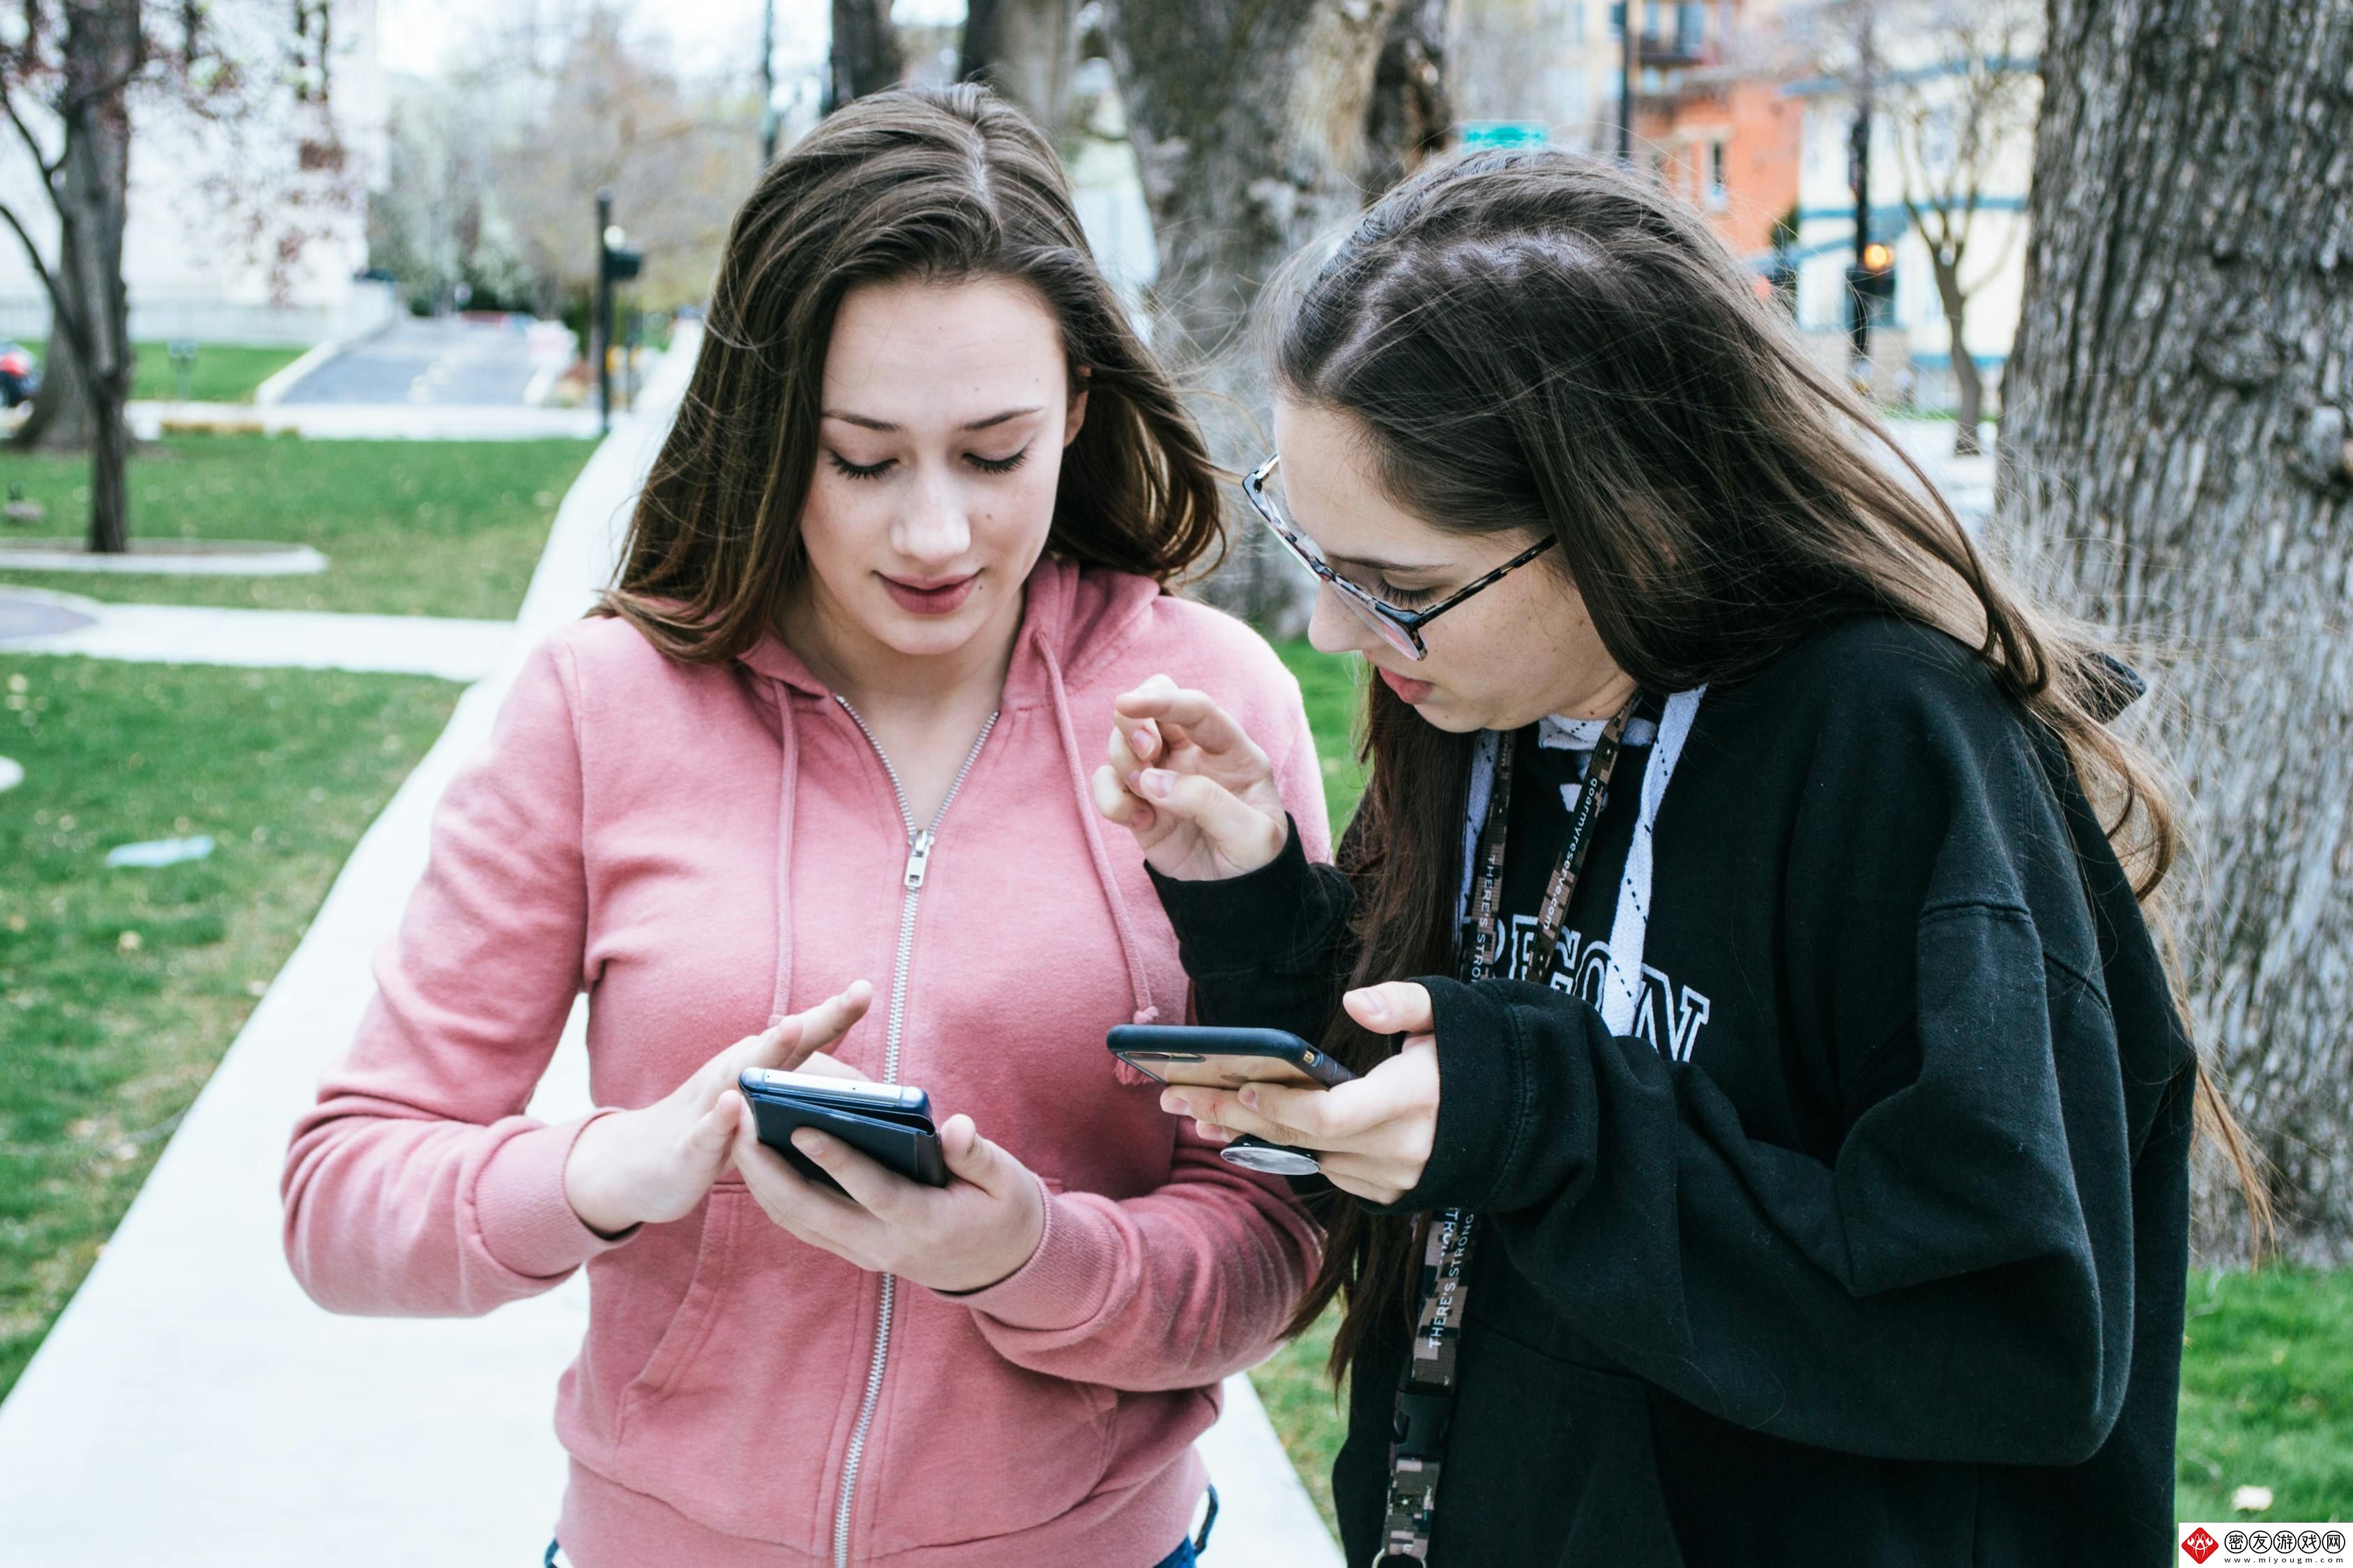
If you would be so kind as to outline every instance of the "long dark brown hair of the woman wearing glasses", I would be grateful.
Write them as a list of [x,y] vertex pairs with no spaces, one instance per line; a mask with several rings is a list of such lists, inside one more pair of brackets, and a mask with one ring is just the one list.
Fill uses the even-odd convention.
[[[1384,489],[1431,527],[1555,534],[1602,644],[1652,691],[1748,675],[1828,618],[1939,628],[2066,748],[2148,903],[2177,851],[2153,764],[2106,729],[2113,665],[2002,583],[1904,449],[1817,369],[1699,214],[1617,165],[1482,153],[1384,197],[1278,289],[1285,395],[1353,416]],[[1358,891],[1351,985],[1454,966],[1471,736],[1365,693],[1372,780],[1341,839]],[[1355,1070],[1388,1051],[1346,1016]],[[2264,1185],[2198,1070],[2198,1124],[2247,1192]],[[1409,1309],[1412,1222],[1327,1213],[1339,1373],[1372,1312]]]

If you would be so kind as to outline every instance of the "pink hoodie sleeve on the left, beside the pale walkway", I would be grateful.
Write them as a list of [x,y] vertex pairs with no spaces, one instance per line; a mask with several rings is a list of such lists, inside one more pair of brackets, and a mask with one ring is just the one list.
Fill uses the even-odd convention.
[[569,656],[536,649],[449,785],[376,997],[280,1192],[287,1262],[332,1312],[466,1316],[616,1246],[572,1213],[588,1117],[522,1114],[581,990],[588,893]]

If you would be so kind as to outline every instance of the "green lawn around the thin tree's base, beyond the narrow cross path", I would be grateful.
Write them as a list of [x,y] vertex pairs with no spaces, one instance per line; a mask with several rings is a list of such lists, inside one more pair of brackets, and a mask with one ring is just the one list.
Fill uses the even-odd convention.
[[[593,442],[308,442],[292,435],[172,435],[132,458],[136,538],[256,538],[313,545],[313,576],[0,571],[0,583],[118,604],[339,609],[506,621],[548,541],[555,503]],[[0,449],[0,484],[49,508],[7,534],[80,536],[89,463]]]

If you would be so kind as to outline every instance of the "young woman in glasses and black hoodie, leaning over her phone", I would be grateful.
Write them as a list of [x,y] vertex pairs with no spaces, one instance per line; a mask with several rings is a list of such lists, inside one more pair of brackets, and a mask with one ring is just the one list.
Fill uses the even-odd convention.
[[1308,865],[1155,679],[1096,802],[1198,1016],[1362,1074],[1162,1100],[1337,1190],[1348,1563],[2167,1561],[2193,1126],[2245,1157],[2139,679],[1654,186],[1471,158],[1304,277],[1245,489],[1369,790]]

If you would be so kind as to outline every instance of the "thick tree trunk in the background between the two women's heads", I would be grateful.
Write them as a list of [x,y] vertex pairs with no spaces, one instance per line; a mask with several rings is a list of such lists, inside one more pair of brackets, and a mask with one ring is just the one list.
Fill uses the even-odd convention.
[[[1297,249],[1334,230],[1442,139],[1414,106],[1445,101],[1442,5],[1292,0],[1209,5],[1106,0],[1144,200],[1160,247],[1153,339],[1195,388],[1212,454],[1266,456],[1264,369],[1240,362],[1259,289]],[[1393,24],[1414,35],[1391,52]],[[1414,54],[1419,49],[1419,54]],[[1384,59],[1398,89],[1377,92]],[[1428,66],[1424,71],[1421,66]],[[1205,597],[1271,635],[1297,635],[1313,578],[1264,529],[1233,515],[1233,555]]]

